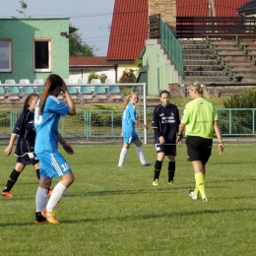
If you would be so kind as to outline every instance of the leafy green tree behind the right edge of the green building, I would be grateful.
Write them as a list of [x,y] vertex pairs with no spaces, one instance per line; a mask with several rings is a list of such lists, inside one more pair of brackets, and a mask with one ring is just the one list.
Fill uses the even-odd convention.
[[90,46],[84,42],[81,35],[79,32],[71,32],[69,34],[69,56],[95,56],[95,46]]

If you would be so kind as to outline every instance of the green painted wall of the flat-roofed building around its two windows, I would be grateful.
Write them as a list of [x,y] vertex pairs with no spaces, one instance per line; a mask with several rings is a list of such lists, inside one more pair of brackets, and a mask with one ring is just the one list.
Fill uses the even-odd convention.
[[[69,39],[60,32],[69,34],[69,18],[63,19],[0,19],[0,38],[13,38],[13,72],[0,72],[2,83],[6,79],[45,79],[55,73],[69,78]],[[52,72],[33,72],[33,38],[52,39]]]

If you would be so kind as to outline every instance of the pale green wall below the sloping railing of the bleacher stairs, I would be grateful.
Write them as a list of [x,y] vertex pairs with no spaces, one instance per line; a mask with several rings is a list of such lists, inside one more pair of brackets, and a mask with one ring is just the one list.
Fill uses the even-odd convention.
[[179,83],[177,72],[167,64],[156,44],[146,45],[138,83],[147,83],[148,96],[159,96],[161,90],[168,90],[168,84]]

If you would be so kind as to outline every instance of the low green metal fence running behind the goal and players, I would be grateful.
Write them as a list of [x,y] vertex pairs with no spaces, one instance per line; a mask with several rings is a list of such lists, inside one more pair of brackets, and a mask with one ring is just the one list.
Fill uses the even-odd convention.
[[[0,110],[0,139],[7,141],[13,131],[21,110]],[[122,142],[122,110],[78,110],[75,116],[60,119],[59,132],[64,138],[77,143],[116,143]],[[219,123],[225,137],[256,136],[256,108],[219,108]],[[141,117],[143,111],[138,111]],[[180,111],[182,115],[182,111]],[[147,111],[148,126],[151,127],[153,110]],[[137,127],[138,128],[138,127]],[[139,129],[139,128],[138,128]],[[137,131],[144,138],[144,131]],[[149,129],[148,139],[153,139]],[[145,138],[144,138],[145,139]],[[147,140],[146,140],[147,141]]]

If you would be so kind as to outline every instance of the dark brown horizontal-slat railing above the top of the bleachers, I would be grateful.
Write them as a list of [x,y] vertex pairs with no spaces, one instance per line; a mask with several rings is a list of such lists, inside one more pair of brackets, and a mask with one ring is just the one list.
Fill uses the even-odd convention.
[[256,17],[176,17],[176,38],[256,37]]

